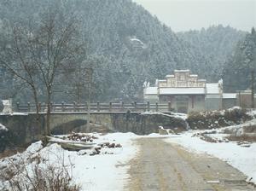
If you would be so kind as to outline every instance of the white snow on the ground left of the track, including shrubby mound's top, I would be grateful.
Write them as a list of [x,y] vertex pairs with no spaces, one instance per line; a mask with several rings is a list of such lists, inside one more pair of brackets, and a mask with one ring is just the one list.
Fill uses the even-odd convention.
[[[132,139],[137,136],[133,133],[112,133],[105,136],[98,136],[96,142],[120,143],[122,148],[102,148],[108,154],[83,155],[83,151],[67,151],[54,143],[42,148],[41,142],[33,143],[24,153],[18,153],[11,157],[12,161],[19,161],[32,158],[39,154],[42,161],[58,165],[62,159],[65,165],[72,166],[73,181],[82,186],[82,190],[123,190],[125,185],[126,171],[129,165],[126,163],[132,159],[137,148],[132,144]],[[84,150],[88,152],[88,150]],[[7,159],[0,160],[0,170],[8,165]],[[28,169],[29,163],[27,162]],[[28,170],[29,171],[29,170]],[[0,189],[4,183],[0,180]]]

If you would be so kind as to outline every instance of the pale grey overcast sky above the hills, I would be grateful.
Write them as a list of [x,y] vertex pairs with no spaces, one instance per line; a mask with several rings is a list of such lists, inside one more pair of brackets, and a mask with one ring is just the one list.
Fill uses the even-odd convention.
[[256,26],[256,0],[133,0],[174,32],[223,24],[243,31]]

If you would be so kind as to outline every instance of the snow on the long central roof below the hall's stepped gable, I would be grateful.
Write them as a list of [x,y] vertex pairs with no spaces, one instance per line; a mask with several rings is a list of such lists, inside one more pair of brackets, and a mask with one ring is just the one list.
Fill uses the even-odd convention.
[[204,95],[204,88],[160,88],[160,95]]

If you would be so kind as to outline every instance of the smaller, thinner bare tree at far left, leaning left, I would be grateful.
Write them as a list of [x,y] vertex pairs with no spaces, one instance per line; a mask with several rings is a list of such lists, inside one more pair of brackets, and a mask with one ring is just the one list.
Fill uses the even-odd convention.
[[5,35],[2,34],[5,41],[2,41],[0,46],[0,65],[15,77],[20,78],[32,90],[38,114],[38,71],[31,59],[29,49],[27,49],[30,31],[18,24],[8,28],[9,31]]

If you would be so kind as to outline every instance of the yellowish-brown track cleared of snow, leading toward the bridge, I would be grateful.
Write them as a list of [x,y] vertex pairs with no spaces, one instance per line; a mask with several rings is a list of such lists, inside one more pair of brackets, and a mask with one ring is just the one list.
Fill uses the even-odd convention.
[[141,138],[131,160],[127,190],[255,190],[246,177],[224,161],[185,151],[163,138]]

